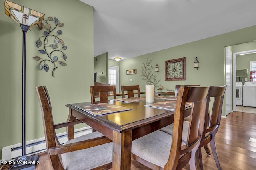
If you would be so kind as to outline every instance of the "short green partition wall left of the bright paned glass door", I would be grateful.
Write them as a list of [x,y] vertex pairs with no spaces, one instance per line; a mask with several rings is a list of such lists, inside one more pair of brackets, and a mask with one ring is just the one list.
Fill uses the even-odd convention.
[[97,73],[97,82],[108,84],[108,53],[94,57],[94,72]]

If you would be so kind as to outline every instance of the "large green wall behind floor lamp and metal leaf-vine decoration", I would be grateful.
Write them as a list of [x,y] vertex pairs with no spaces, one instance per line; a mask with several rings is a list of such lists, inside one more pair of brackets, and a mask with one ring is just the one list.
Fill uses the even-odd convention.
[[[4,1],[0,12],[0,159],[2,147],[22,142],[22,31],[20,26],[4,14]],[[42,115],[36,95],[36,86],[47,86],[52,102],[54,122],[66,121],[66,104],[89,102],[93,84],[93,7],[78,0],[12,0],[12,2],[45,14],[56,16],[68,47],[67,66],[55,71],[39,71],[37,61],[41,55],[35,41],[42,30],[28,30],[26,37],[26,141],[44,137]],[[75,12],[74,12],[75,11]],[[50,68],[51,69],[51,68]],[[65,129],[63,129],[64,131]]]

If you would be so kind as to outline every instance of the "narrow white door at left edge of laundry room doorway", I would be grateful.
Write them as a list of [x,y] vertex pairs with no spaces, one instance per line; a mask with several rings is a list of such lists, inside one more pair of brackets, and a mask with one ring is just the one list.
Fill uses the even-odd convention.
[[225,48],[225,62],[226,62],[226,66],[225,66],[225,84],[227,85],[226,88],[226,92],[225,92],[225,102],[226,102],[226,115],[228,115],[229,113],[232,112],[232,68],[231,68],[231,64],[232,64],[232,52],[226,47]]

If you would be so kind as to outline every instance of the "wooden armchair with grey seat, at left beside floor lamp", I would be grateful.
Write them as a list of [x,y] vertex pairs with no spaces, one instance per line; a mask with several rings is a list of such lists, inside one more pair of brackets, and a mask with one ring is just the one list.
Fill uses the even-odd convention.
[[53,123],[52,106],[45,86],[36,88],[42,111],[47,154],[54,170],[112,168],[112,141],[99,132],[60,144],[55,129],[81,123],[79,120]]

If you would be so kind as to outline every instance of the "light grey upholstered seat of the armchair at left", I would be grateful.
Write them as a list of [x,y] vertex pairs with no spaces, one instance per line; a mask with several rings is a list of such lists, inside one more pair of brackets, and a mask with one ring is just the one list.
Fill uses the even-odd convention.
[[[84,141],[96,137],[104,136],[99,132],[89,133],[80,137],[76,137],[66,142],[65,144],[74,143],[78,141]],[[61,154],[62,163],[66,170],[88,170],[96,168],[98,166],[108,164],[112,162],[112,149],[113,143],[106,143],[91,147],[88,149],[82,149],[74,152],[68,152]],[[79,162],[79,163],[78,163]]]

